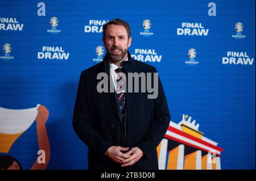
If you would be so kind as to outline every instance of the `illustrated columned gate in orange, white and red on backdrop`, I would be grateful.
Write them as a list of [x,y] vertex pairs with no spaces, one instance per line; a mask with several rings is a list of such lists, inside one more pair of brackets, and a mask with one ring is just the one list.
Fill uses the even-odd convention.
[[196,120],[191,122],[187,115],[183,115],[179,124],[170,121],[157,148],[159,169],[220,170],[220,155],[224,149],[203,135]]

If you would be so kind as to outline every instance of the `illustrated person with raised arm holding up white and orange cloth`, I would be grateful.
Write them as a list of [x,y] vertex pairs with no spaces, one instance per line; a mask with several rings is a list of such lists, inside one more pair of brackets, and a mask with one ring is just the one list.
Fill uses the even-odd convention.
[[[46,169],[50,158],[50,147],[46,130],[48,117],[49,111],[40,104],[34,108],[23,110],[11,110],[0,107],[0,153],[9,153],[11,146],[18,137],[30,128],[36,120],[39,150],[44,154],[45,160],[39,162],[36,159],[31,169]],[[0,157],[1,165],[0,169],[22,169],[22,166],[15,158],[7,155]]]

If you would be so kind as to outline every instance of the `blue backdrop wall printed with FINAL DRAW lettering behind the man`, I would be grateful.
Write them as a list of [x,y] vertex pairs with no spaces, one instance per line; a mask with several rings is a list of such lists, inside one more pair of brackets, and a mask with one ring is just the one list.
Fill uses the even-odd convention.
[[[254,0],[214,1],[216,16],[208,15],[210,1],[44,0],[46,16],[38,16],[39,2],[0,2],[0,107],[48,108],[47,169],[87,169],[73,106],[81,71],[106,53],[96,53],[104,47],[102,23],[115,18],[130,24],[133,57],[158,69],[171,120],[179,123],[183,113],[196,119],[224,148],[221,169],[255,169]],[[49,59],[55,52],[46,47],[61,47],[64,52],[56,52],[66,57]],[[8,155],[30,169],[38,149],[34,122]]]

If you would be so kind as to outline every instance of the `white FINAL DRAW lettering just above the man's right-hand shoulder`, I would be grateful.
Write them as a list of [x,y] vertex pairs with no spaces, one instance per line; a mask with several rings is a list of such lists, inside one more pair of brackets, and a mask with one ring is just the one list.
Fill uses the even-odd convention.
[[162,55],[158,54],[155,49],[136,48],[134,54],[131,54],[131,57],[142,62],[161,62],[162,60]]

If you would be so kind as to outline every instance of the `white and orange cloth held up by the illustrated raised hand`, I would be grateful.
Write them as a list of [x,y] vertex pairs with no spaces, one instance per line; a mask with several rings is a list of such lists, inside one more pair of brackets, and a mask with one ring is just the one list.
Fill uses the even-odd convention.
[[22,110],[0,107],[0,153],[9,153],[18,137],[34,123],[39,106]]

